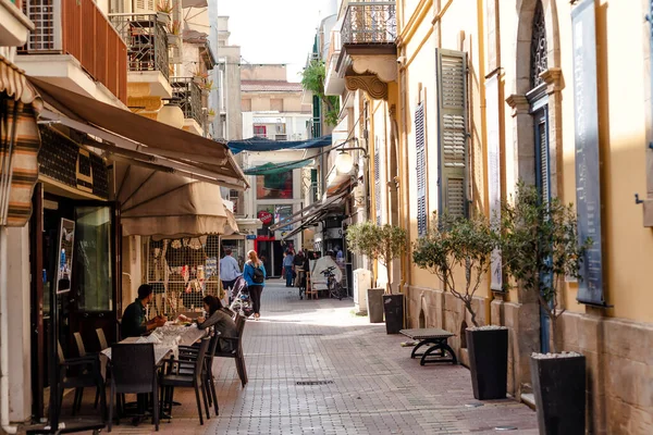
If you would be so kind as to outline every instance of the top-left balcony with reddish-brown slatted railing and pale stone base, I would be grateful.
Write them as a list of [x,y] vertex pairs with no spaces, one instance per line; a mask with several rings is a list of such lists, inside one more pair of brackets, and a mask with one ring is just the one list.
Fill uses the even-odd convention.
[[16,63],[42,78],[100,101],[127,100],[127,48],[93,0],[24,0],[35,24]]

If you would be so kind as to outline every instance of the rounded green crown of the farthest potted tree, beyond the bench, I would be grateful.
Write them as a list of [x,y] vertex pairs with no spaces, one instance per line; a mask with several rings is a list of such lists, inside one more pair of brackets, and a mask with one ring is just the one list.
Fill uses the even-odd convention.
[[[349,250],[370,260],[378,260],[387,269],[389,277],[390,263],[404,253],[408,240],[404,228],[389,224],[379,226],[372,222],[350,225],[347,227],[346,237]],[[389,288],[392,293],[390,283]]]

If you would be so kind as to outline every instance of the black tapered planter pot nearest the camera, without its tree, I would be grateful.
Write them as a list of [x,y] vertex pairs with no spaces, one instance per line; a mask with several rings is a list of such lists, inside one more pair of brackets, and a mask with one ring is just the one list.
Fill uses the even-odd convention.
[[531,357],[531,381],[540,434],[584,434],[586,358]]

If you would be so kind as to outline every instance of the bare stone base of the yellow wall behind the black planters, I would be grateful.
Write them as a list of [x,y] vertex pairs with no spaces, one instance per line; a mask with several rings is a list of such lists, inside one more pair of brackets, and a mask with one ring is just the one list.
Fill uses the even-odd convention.
[[[530,355],[540,349],[540,313],[534,301],[491,302],[488,322],[483,303],[475,298],[479,324],[509,328],[508,393],[520,398],[530,385]],[[439,289],[406,286],[407,327],[441,327],[456,334],[449,345],[468,365],[464,340],[470,324],[465,306]],[[558,350],[587,358],[588,433],[653,434],[653,324],[565,312],[557,324]]]

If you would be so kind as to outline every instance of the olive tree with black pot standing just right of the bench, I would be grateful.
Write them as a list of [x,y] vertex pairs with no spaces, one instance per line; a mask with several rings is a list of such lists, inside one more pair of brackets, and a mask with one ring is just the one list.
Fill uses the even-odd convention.
[[431,231],[416,240],[412,261],[436,275],[463,301],[473,326],[465,332],[473,396],[477,399],[506,397],[508,330],[481,326],[473,308],[473,296],[488,277],[497,235],[483,216],[451,219],[443,216]]

